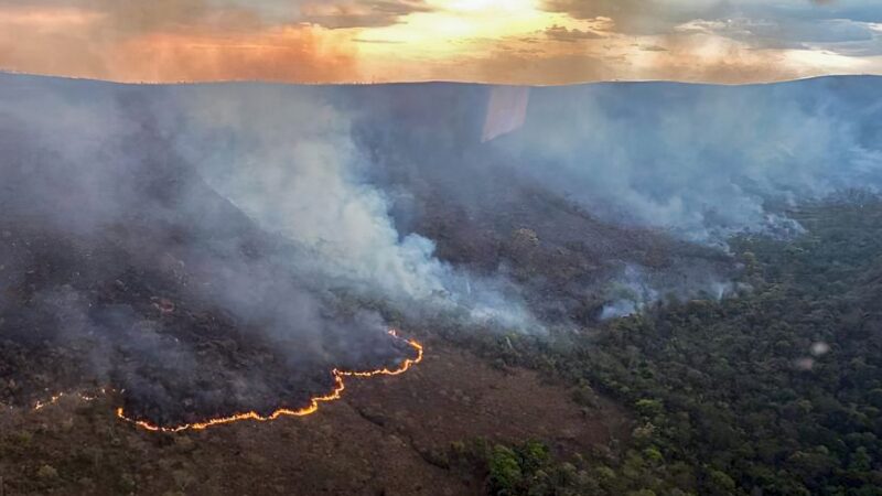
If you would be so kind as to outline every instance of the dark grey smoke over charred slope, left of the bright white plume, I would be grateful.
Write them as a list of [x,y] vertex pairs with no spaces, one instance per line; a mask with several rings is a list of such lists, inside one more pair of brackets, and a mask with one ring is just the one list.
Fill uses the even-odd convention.
[[178,423],[301,407],[331,368],[407,353],[176,152],[162,88],[3,84],[0,346],[30,357],[13,373],[61,354],[72,371],[45,387],[110,384],[137,417]]

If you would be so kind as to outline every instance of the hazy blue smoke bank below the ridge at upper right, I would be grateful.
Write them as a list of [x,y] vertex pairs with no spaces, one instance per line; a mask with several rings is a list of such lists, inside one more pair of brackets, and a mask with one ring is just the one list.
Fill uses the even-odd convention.
[[706,244],[796,233],[786,206],[882,184],[874,85],[534,89],[524,127],[491,145],[607,219]]

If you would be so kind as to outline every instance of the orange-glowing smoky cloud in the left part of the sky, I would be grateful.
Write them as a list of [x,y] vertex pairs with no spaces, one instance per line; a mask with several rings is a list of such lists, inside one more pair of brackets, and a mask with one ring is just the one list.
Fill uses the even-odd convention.
[[[121,82],[357,78],[356,44],[322,28],[268,25],[202,0],[96,0],[95,10],[0,9],[0,67]],[[194,24],[195,23],[195,24]]]

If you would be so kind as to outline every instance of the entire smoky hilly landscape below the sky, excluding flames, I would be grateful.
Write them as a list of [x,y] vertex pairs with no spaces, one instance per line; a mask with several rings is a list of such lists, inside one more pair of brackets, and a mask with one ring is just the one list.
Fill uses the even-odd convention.
[[0,75],[0,492],[876,494],[879,83]]

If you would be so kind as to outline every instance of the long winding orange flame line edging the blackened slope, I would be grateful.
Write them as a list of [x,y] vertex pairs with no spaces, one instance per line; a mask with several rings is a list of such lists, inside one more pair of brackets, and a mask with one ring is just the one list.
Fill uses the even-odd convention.
[[[398,339],[404,339],[402,337],[398,336],[398,333],[395,330],[390,330],[389,334]],[[303,407],[298,410],[280,408],[268,416],[261,416],[256,411],[248,411],[244,413],[235,413],[229,417],[219,417],[216,419],[208,419],[202,422],[185,423],[175,427],[162,427],[162,425],[157,425],[154,423],[150,423],[149,421],[146,420],[132,419],[126,416],[126,412],[121,407],[117,409],[117,418],[133,423],[135,425],[141,429],[146,429],[152,432],[181,432],[186,430],[201,431],[209,427],[223,425],[227,423],[239,422],[243,420],[255,420],[258,422],[267,422],[270,420],[276,420],[280,417],[305,417],[315,413],[315,411],[319,410],[319,403],[324,401],[334,401],[341,398],[343,390],[346,388],[346,385],[343,382],[344,377],[397,376],[406,373],[413,365],[417,365],[420,362],[422,362],[422,345],[413,339],[404,339],[404,341],[406,341],[407,344],[409,344],[413,349],[417,351],[416,358],[405,359],[395,369],[389,369],[384,367],[377,370],[349,371],[349,370],[338,370],[335,368],[334,370],[332,370],[332,374],[334,375],[334,388],[331,390],[331,392],[324,396],[319,396],[310,399],[310,403],[306,407]]]

